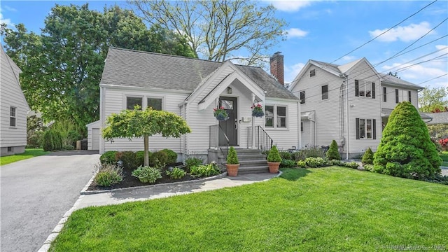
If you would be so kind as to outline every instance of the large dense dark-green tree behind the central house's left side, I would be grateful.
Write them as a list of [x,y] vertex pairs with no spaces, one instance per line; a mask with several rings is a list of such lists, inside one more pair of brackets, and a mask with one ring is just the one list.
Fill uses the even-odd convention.
[[99,80],[109,46],[191,57],[183,36],[148,29],[132,10],[118,6],[104,13],[83,6],[55,5],[38,35],[22,24],[1,31],[8,55],[22,69],[20,83],[27,101],[45,121],[74,120],[85,125],[99,118]]

